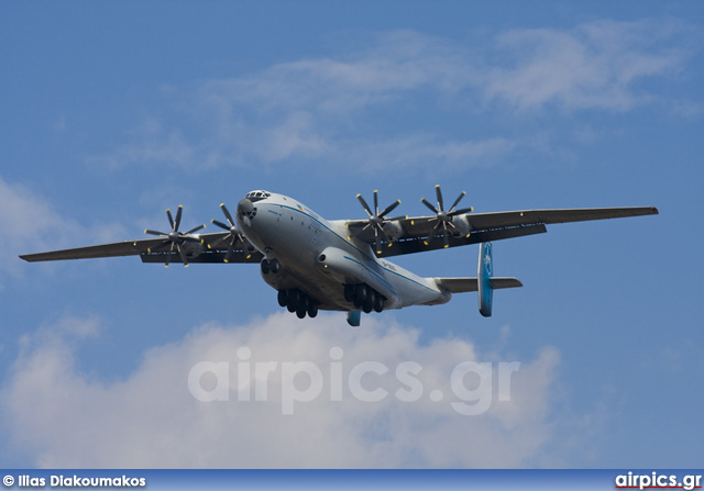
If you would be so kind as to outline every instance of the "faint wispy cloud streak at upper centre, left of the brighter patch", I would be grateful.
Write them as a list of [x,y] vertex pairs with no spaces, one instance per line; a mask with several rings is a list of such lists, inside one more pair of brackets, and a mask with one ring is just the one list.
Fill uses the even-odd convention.
[[397,101],[420,89],[454,92],[475,80],[464,49],[416,32],[382,34],[366,49],[339,58],[278,64],[248,77],[201,87],[220,103],[253,105],[261,113],[307,108],[339,118]]

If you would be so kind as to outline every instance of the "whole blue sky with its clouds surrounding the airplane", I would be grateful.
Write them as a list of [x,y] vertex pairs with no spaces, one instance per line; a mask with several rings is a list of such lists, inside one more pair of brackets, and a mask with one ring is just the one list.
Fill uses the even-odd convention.
[[[0,461],[701,466],[703,18],[678,1],[3,2]],[[378,189],[424,214],[436,183],[476,212],[661,214],[496,243],[495,272],[525,288],[492,319],[461,294],[359,330],[283,314],[256,266],[16,258],[140,238],[179,203],[186,228],[209,223],[252,189],[329,219],[363,217],[355,194]],[[476,254],[398,263],[473,276]],[[415,360],[428,391],[465,360],[521,369],[482,416],[195,401],[188,369],[242,346]]]

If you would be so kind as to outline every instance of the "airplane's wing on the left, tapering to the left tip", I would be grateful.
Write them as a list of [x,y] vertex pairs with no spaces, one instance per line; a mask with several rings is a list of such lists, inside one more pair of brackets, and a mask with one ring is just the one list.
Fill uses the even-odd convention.
[[[188,263],[224,263],[231,238],[227,232],[212,234],[199,234],[197,241],[188,243],[185,247]],[[140,238],[136,241],[114,242],[88,247],[51,250],[47,253],[25,254],[20,258],[30,261],[65,260],[65,259],[91,259],[100,257],[140,256],[143,263],[183,263],[176,252],[169,250],[169,245],[164,246],[164,237]],[[160,247],[162,246],[162,247]],[[235,244],[228,263],[258,263],[262,254]]]

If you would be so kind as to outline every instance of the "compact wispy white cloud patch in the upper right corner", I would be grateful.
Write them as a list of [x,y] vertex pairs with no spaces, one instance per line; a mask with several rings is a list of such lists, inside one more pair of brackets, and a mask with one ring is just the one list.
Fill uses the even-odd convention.
[[638,82],[683,66],[688,51],[669,44],[681,29],[674,22],[598,21],[571,31],[503,33],[497,51],[508,63],[490,68],[485,94],[524,111],[547,104],[631,109],[650,97]]

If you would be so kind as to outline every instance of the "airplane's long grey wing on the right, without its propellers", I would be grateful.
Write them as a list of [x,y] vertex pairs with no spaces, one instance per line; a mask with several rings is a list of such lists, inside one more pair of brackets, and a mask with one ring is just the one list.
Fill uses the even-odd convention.
[[[546,224],[653,214],[658,214],[658,209],[654,207],[466,213],[464,215],[457,215],[453,220],[466,217],[470,225],[470,233],[464,235],[450,235],[447,239],[447,247],[541,234],[547,232]],[[391,241],[385,234],[378,232],[381,244],[381,254],[377,255],[378,257],[414,254],[446,247],[441,228],[435,227],[438,223],[436,216],[405,216],[402,219],[392,219],[389,222],[394,222],[399,226],[400,234],[395,241]],[[350,228],[351,235],[370,244],[374,244],[376,241],[374,228],[366,226],[367,223],[369,221],[366,220],[353,220],[348,222],[348,227]]]

